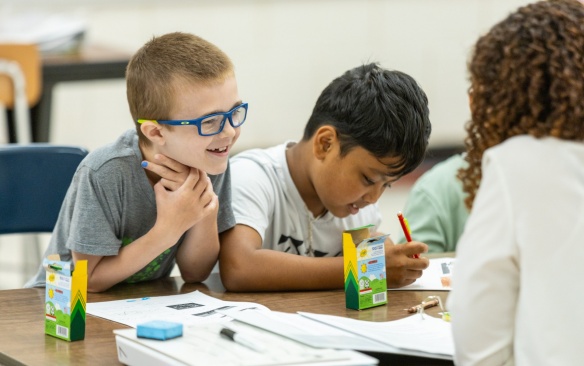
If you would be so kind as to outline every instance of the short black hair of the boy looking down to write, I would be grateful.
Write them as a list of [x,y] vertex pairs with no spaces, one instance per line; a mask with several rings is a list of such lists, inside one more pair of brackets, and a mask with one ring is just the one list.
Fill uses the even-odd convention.
[[323,125],[336,129],[341,156],[359,146],[377,158],[400,158],[389,167],[397,176],[420,165],[432,130],[422,88],[411,76],[377,63],[346,71],[322,91],[302,139]]

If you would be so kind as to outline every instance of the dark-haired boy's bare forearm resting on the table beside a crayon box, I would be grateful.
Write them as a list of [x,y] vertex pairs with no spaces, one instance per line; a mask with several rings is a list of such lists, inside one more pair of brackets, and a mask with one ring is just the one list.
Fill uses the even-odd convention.
[[222,256],[221,279],[229,291],[340,289],[344,284],[343,258],[312,258],[257,249],[235,261]]

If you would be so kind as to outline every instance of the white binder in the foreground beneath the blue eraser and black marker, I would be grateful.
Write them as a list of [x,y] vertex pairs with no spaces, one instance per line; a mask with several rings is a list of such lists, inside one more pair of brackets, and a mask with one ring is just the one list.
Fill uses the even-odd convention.
[[222,327],[217,323],[188,326],[182,337],[167,341],[138,338],[135,329],[114,330],[118,359],[130,366],[350,366],[378,363],[377,359],[359,352],[314,348],[245,323],[230,322],[230,328],[267,346],[267,351],[256,352],[221,337]]

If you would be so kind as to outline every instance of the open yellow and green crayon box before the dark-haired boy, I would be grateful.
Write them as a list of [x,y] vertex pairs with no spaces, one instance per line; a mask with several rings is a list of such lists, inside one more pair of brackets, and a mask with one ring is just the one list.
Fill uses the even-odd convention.
[[345,302],[361,310],[387,304],[385,238],[370,237],[373,225],[343,232]]

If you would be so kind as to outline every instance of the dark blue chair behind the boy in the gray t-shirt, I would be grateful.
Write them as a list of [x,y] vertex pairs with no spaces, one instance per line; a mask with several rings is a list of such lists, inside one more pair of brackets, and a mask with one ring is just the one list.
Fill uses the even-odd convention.
[[[73,174],[87,153],[47,143],[0,146],[0,234],[52,232]],[[41,253],[35,239],[38,267]]]

